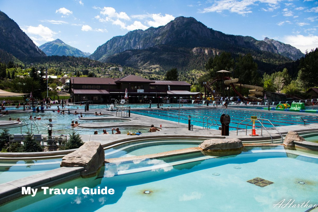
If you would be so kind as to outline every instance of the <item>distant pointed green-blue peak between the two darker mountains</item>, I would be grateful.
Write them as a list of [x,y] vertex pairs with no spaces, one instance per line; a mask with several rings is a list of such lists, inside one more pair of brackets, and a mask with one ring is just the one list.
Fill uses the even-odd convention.
[[58,55],[58,56],[74,56],[74,57],[88,57],[90,53],[86,53],[76,49],[60,39],[47,42],[40,45],[39,48],[45,52],[47,56]]

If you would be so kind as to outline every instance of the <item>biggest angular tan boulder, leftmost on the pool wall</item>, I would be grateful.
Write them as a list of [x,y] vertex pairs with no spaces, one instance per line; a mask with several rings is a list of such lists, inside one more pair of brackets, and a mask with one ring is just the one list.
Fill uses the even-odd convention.
[[61,167],[84,167],[81,176],[84,178],[98,174],[105,162],[105,152],[100,142],[89,141],[78,150],[62,158]]

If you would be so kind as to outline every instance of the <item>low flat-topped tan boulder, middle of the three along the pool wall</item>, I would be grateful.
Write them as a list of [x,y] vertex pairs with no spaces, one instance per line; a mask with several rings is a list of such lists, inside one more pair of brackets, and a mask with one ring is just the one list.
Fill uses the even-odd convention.
[[244,146],[237,138],[226,138],[204,140],[199,147],[204,151],[232,151],[242,149]]

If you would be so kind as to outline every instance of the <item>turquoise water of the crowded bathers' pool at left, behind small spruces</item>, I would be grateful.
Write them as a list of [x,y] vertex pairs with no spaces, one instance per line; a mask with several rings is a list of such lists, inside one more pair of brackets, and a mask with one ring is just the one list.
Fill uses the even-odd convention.
[[[12,120],[17,120],[17,118],[20,118],[23,120],[26,124],[22,125],[22,133],[25,133],[28,131],[28,129],[31,132],[31,121],[29,120],[30,115],[32,117],[36,116],[37,118],[41,118],[41,120],[35,120],[35,124],[32,124],[32,133],[39,133],[40,134],[47,134],[47,125],[51,123],[53,125],[53,135],[61,135],[61,134],[69,134],[72,133],[73,130],[76,133],[79,134],[93,134],[95,129],[86,129],[86,128],[80,128],[80,127],[71,127],[72,121],[78,121],[80,123],[91,123],[91,122],[103,122],[103,123],[110,123],[110,124],[116,124],[116,123],[123,123],[130,121],[129,119],[116,119],[114,116],[109,115],[103,115],[101,117],[109,118],[107,120],[79,120],[79,115],[73,115],[73,114],[58,114],[56,112],[52,111],[46,111],[44,113],[10,113],[8,116],[1,117],[0,120],[9,120],[11,117]],[[83,117],[96,117],[93,114],[83,114]],[[100,116],[98,116],[100,117]],[[52,122],[49,122],[49,119],[52,119]],[[36,125],[36,126],[35,126]],[[37,128],[38,127],[38,128]],[[38,130],[37,130],[38,129]],[[111,129],[110,129],[111,130]],[[102,130],[100,130],[102,132]],[[111,131],[110,131],[111,132]],[[20,127],[12,127],[9,128],[10,134],[21,134]]]

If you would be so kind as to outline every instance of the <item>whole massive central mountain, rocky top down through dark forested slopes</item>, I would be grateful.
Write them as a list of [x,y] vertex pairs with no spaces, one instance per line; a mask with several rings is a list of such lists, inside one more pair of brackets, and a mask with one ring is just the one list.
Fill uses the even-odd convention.
[[[206,58],[221,51],[251,53],[255,60],[285,63],[303,56],[296,48],[280,43],[258,41],[249,36],[228,35],[208,28],[193,17],[177,17],[165,26],[130,31],[99,46],[89,58],[133,67],[166,67],[199,60],[191,67],[202,68]],[[183,53],[182,53],[183,52]],[[261,55],[261,56],[260,56]],[[198,58],[200,57],[200,58]],[[261,57],[261,58],[260,58]],[[188,61],[189,62],[189,61]],[[188,64],[189,66],[189,64]]]

